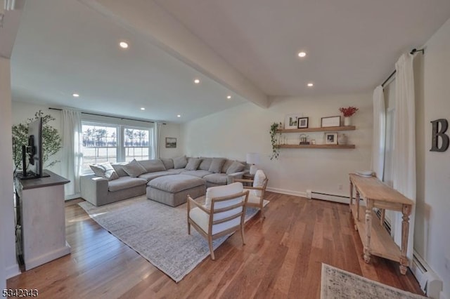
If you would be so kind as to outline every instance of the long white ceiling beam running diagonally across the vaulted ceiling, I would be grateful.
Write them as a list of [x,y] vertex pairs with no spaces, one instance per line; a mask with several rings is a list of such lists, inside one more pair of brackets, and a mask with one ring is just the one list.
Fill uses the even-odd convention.
[[79,0],[98,13],[139,34],[198,72],[259,107],[269,100],[255,84],[231,67],[201,39],[151,0]]

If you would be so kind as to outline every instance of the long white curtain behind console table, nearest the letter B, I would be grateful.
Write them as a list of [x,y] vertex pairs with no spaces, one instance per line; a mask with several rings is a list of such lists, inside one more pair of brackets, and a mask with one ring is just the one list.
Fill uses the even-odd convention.
[[[413,55],[401,55],[395,64],[395,116],[392,183],[395,190],[416,202],[416,109]],[[409,219],[408,257],[413,258],[415,206]],[[395,213],[394,241],[401,244],[401,213]]]

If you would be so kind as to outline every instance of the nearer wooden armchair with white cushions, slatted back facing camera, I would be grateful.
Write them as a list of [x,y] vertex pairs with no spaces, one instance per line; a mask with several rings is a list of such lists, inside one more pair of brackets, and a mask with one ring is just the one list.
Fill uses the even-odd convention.
[[191,225],[208,241],[211,259],[214,258],[212,240],[240,231],[245,244],[244,220],[248,191],[240,182],[230,185],[210,187],[206,192],[205,206],[198,204],[188,195],[188,234]]

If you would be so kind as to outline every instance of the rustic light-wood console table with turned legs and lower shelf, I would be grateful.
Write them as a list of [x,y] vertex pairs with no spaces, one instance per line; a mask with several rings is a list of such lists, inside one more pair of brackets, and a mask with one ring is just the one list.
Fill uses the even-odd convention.
[[[358,230],[359,237],[364,246],[364,261],[369,263],[371,255],[387,258],[400,263],[401,274],[406,274],[406,267],[409,260],[406,257],[408,249],[409,215],[413,201],[404,197],[397,190],[388,187],[378,178],[364,177],[350,173],[350,213],[353,214],[355,230]],[[355,203],[353,204],[353,188],[356,190]],[[366,207],[360,207],[359,201],[363,197]],[[373,208],[381,209],[380,222],[372,221]],[[395,244],[390,234],[383,227],[385,221],[385,209],[399,211],[403,213],[401,222],[401,248]],[[359,220],[359,213],[365,213],[365,221]],[[375,216],[376,217],[376,216]]]

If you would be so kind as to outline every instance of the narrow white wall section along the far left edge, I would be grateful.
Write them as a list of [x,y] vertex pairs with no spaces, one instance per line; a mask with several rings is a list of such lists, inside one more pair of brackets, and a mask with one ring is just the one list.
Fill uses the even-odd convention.
[[0,57],[0,290],[19,273],[15,261],[10,60]]

